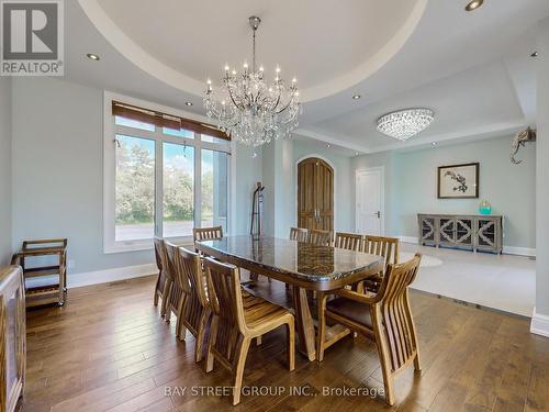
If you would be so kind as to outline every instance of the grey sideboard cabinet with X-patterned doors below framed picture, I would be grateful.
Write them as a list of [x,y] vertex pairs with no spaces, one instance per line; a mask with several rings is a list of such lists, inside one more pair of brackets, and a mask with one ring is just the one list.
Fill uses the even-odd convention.
[[421,245],[493,252],[503,249],[503,216],[418,214]]

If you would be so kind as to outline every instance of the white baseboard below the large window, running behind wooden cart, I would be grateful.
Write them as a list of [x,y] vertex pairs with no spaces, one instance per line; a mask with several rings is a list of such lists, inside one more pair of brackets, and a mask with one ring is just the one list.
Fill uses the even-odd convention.
[[[79,288],[82,286],[108,283],[116,280],[139,278],[157,274],[155,264],[126,266],[105,270],[87,271],[80,274],[67,274],[67,287]],[[38,281],[40,280],[40,281]],[[29,287],[43,285],[44,282],[56,282],[57,276],[44,276],[43,278],[31,278],[26,280]]]

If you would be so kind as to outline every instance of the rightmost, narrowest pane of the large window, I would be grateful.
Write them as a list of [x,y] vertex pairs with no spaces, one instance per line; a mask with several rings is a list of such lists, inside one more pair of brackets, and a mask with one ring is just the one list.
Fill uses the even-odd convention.
[[223,152],[202,151],[202,227],[222,225],[227,230],[227,158]]

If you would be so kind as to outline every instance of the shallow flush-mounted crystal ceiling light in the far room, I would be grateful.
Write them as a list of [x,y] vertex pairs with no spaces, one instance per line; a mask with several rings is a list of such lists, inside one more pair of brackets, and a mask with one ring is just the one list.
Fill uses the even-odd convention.
[[400,141],[407,141],[427,129],[435,120],[430,109],[405,109],[378,119],[378,130]]

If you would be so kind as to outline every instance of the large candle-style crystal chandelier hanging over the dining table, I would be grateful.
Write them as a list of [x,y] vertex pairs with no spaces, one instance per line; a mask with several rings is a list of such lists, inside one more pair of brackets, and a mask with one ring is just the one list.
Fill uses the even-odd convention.
[[287,86],[277,67],[274,80],[265,80],[262,66],[256,67],[256,31],[261,20],[249,18],[253,30],[251,68],[244,63],[237,74],[225,65],[221,99],[214,96],[212,81],[208,80],[204,108],[209,118],[216,119],[217,126],[238,142],[260,146],[273,138],[285,137],[298,126],[301,112],[298,80]]

